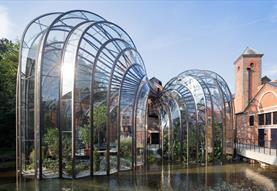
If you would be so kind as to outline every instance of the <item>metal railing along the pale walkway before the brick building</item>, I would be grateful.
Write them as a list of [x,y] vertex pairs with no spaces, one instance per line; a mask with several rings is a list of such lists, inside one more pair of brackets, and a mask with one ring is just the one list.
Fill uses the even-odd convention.
[[254,152],[277,156],[277,141],[259,139],[237,139],[236,149],[247,149]]

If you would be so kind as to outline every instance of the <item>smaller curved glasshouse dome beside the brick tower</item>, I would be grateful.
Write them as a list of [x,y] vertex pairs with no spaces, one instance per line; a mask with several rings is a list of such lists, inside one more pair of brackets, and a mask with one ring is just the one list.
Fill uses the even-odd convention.
[[232,94],[215,72],[182,72],[165,85],[157,105],[167,121],[161,126],[167,158],[208,163],[233,154]]

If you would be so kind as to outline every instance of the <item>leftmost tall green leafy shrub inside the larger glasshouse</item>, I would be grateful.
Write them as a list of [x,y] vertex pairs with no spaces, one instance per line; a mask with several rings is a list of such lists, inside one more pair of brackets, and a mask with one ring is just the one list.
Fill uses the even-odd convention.
[[59,151],[59,131],[57,128],[48,128],[44,135],[44,143],[47,145],[47,156],[57,158]]

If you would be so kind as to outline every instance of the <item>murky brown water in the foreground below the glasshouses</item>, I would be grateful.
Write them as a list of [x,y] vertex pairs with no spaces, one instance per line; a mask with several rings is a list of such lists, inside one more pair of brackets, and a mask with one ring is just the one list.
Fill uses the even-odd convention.
[[22,179],[15,182],[12,174],[1,173],[0,190],[275,190],[276,175],[276,168],[262,169],[247,163],[189,168],[182,164],[152,164],[110,177],[78,180]]

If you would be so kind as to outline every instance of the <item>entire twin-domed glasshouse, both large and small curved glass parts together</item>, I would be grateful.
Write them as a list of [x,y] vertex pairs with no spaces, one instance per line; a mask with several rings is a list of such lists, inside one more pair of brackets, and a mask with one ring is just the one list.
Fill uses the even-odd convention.
[[73,10],[35,18],[20,47],[17,174],[135,170],[154,147],[160,159],[187,165],[233,154],[232,95],[221,76],[188,70],[165,86],[155,79],[130,36],[101,16]]

